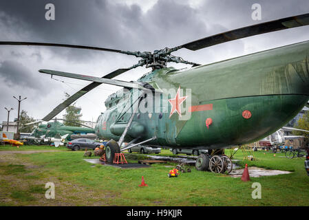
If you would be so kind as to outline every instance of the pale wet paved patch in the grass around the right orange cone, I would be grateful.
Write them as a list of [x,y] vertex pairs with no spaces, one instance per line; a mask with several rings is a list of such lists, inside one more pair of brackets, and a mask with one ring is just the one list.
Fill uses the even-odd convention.
[[[265,168],[260,168],[256,166],[248,167],[249,176],[250,177],[264,177],[264,176],[273,176],[273,175],[281,175],[292,173],[284,170],[268,170]],[[242,173],[244,173],[244,169],[232,170],[229,174],[231,177],[242,177]]]

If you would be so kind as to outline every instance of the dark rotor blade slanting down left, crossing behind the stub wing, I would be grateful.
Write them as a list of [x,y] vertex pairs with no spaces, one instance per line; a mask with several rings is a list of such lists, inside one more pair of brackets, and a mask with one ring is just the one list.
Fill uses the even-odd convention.
[[[102,78],[114,78],[114,77],[116,77],[120,74],[123,74],[124,72],[127,72],[128,70],[129,70],[129,68],[128,69],[116,69],[114,72],[111,72],[111,73],[103,76]],[[61,113],[61,111],[63,111],[66,107],[68,107],[70,104],[72,104],[73,102],[78,100],[78,98],[81,98],[81,96],[87,94],[88,91],[91,91],[92,89],[98,87],[101,84],[102,83],[95,83],[94,82],[94,83],[90,83],[89,85],[83,87],[83,89],[77,91],[76,94],[73,94],[72,96],[67,98],[67,100],[62,102],[61,104],[58,104],[58,106],[56,108],[54,108],[50,113],[48,113],[48,115],[46,115],[42,120],[45,121],[45,122],[52,120],[52,118],[54,118],[56,115],[58,115],[58,113]]]

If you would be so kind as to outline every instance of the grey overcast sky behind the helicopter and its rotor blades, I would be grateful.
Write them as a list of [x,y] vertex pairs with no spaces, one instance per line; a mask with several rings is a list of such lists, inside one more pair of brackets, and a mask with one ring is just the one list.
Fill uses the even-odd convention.
[[[45,5],[55,6],[55,20],[45,19]],[[262,6],[262,20],[251,18],[253,3]],[[308,0],[2,0],[0,41],[38,41],[107,47],[118,50],[153,51],[175,47],[196,39],[309,12]],[[208,64],[291,43],[309,40],[309,26],[231,41],[192,52],[173,55]],[[12,96],[27,97],[21,109],[41,119],[63,102],[65,92],[74,94],[89,82],[54,78],[39,69],[104,76],[115,69],[130,67],[138,58],[125,54],[67,49],[61,47],[0,46],[0,123],[7,120],[4,107],[13,107],[10,119],[17,118],[18,102]],[[177,68],[187,65],[169,66]],[[150,69],[138,67],[117,76],[137,80]],[[105,111],[104,101],[120,87],[100,85],[80,98],[83,120],[96,120]],[[62,118],[59,113],[57,118]]]

